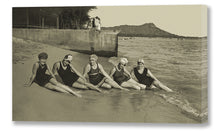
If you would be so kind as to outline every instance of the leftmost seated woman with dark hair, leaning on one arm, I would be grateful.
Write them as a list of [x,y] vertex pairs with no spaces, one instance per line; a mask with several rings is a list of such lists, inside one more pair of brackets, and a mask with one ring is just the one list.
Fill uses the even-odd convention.
[[[50,67],[46,64],[47,58],[47,53],[43,52],[38,55],[39,61],[33,65],[31,78],[28,84],[25,84],[25,86],[30,87],[32,83],[35,82],[38,85],[46,87],[50,90],[69,93],[81,97],[81,95],[72,91],[68,86],[56,81],[55,76],[50,70]],[[46,71],[48,71],[50,75],[46,74]]]

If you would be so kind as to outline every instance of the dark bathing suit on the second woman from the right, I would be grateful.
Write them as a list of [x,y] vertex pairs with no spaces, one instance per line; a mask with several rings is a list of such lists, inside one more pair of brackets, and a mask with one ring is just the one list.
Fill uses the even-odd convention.
[[124,72],[124,69],[121,69],[120,71],[116,68],[115,73],[113,74],[114,81],[117,82],[119,85],[121,85],[123,82],[128,81],[130,79],[129,75],[126,75]]

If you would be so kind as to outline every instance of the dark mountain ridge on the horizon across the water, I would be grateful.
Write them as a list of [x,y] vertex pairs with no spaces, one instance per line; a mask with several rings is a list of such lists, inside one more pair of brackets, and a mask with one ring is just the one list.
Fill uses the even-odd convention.
[[125,37],[165,37],[165,38],[197,38],[179,36],[156,27],[153,23],[143,25],[120,25],[114,27],[102,27],[102,30],[119,30],[118,36]]

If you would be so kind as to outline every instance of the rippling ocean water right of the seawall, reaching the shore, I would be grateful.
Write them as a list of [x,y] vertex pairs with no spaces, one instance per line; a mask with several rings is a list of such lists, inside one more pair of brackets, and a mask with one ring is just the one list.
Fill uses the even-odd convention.
[[119,57],[110,58],[111,63],[126,57],[131,70],[143,58],[145,66],[175,91],[156,91],[154,95],[178,107],[186,117],[207,120],[207,39],[119,37],[118,44]]

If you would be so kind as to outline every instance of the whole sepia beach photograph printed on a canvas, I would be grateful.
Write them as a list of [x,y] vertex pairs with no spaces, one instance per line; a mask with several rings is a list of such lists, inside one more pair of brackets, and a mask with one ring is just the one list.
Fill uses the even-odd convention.
[[12,8],[12,120],[207,123],[205,5]]

